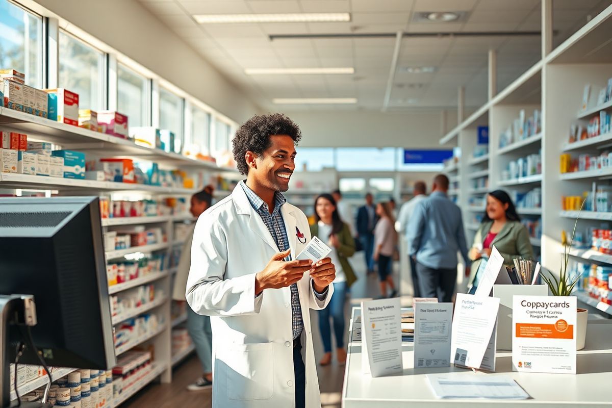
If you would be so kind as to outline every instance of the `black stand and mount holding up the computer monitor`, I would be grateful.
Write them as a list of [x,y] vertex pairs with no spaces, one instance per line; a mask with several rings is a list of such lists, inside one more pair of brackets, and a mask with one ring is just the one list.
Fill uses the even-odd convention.
[[[0,295],[0,407],[9,408],[10,369],[9,369],[9,327],[16,325],[35,325],[36,309],[31,295]],[[17,373],[15,373],[17,375]],[[17,406],[15,401],[14,406]],[[52,408],[51,404],[41,402],[21,402],[23,408]]]

